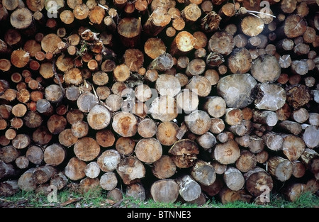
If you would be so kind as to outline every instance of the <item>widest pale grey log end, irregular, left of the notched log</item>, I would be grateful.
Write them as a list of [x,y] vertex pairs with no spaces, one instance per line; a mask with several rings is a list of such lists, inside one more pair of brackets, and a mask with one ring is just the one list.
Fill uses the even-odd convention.
[[254,101],[253,89],[257,81],[250,74],[230,74],[220,79],[217,93],[228,107],[244,108]]

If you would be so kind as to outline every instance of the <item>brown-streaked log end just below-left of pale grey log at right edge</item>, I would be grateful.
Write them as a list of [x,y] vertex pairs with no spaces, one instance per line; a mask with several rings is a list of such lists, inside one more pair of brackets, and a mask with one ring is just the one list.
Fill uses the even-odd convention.
[[306,144],[297,135],[283,135],[282,151],[289,161],[298,160],[306,149]]

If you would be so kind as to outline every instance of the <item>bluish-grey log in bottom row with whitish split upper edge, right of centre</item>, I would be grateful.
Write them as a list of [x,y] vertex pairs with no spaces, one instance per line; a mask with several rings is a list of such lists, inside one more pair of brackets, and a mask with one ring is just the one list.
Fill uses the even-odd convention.
[[179,195],[184,201],[194,201],[201,195],[201,186],[188,174],[175,180],[179,184]]

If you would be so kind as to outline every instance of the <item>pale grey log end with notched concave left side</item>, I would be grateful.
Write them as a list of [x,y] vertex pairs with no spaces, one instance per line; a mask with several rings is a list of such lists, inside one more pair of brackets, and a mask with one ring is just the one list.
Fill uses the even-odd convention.
[[276,111],[286,102],[286,91],[276,84],[262,83],[257,85],[257,96],[254,105],[257,109]]

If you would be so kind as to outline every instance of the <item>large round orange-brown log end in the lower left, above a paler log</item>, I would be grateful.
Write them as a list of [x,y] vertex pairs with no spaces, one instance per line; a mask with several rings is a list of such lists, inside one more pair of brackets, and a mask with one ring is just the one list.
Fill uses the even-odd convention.
[[91,161],[94,160],[100,153],[100,145],[94,138],[83,137],[77,140],[74,144],[74,154],[79,160]]

